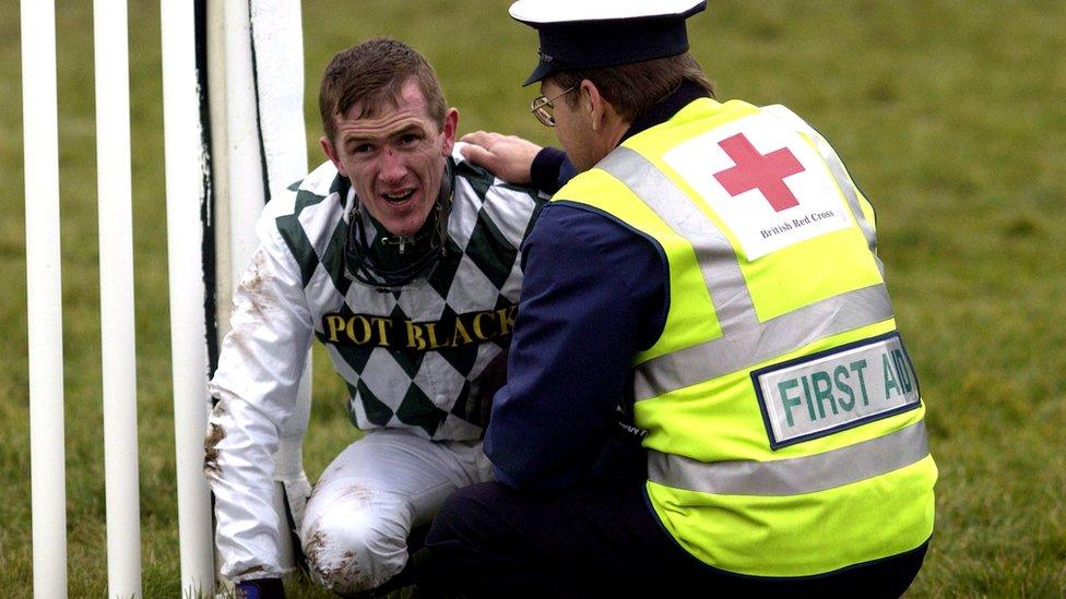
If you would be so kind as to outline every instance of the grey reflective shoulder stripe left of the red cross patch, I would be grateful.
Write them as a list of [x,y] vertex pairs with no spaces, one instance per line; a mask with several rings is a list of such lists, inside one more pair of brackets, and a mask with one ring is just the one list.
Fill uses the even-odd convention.
[[733,244],[687,193],[648,158],[628,147],[616,148],[596,168],[621,181],[692,245],[722,331],[758,324]]

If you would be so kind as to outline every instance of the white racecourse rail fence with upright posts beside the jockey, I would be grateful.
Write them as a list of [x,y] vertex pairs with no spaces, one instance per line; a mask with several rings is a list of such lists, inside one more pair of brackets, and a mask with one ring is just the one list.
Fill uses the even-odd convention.
[[[141,597],[127,1],[95,0],[93,15],[108,596]],[[161,0],[161,19],[181,589],[211,596],[206,381],[256,218],[307,170],[299,5]],[[21,0],[21,20],[33,588],[50,599],[67,596],[68,574],[55,0]],[[304,477],[308,371],[276,457],[281,511]]]

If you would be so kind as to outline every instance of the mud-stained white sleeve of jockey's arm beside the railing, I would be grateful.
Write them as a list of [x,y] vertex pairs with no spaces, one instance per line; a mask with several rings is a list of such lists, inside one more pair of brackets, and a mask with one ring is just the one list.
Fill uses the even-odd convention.
[[300,269],[274,219],[258,225],[259,248],[234,292],[232,331],[209,384],[204,471],[215,496],[215,543],[230,580],[277,577],[280,535],[273,508],[273,455],[311,340]]

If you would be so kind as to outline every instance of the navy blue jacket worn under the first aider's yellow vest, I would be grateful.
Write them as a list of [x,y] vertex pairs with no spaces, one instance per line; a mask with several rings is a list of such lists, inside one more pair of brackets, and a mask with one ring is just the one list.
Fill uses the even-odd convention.
[[[635,120],[626,137],[701,96],[683,85]],[[573,168],[561,152],[546,149],[532,175],[538,188],[556,191]],[[614,217],[557,196],[522,245],[522,267],[508,384],[496,394],[485,434],[497,478],[555,489],[638,474],[638,440],[627,440],[618,423],[632,410],[633,355],[654,344],[666,320],[662,249]]]

